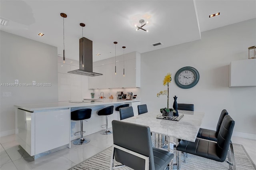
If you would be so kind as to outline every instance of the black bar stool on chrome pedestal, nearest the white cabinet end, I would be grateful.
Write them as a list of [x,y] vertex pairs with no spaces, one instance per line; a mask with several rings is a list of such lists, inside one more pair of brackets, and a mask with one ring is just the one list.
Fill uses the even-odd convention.
[[[74,140],[73,144],[80,145],[80,144],[86,144],[90,142],[90,139],[85,139],[83,136],[83,133],[84,133],[83,120],[90,119],[91,114],[92,114],[92,109],[79,109],[71,112],[71,120],[80,121],[80,128],[81,128],[80,132],[76,132],[81,134],[81,138]],[[76,133],[74,135],[76,135]]]

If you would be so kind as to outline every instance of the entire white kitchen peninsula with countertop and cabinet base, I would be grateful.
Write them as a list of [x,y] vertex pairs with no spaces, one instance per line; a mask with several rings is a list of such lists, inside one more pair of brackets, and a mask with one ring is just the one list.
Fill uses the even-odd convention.
[[[92,99],[93,100],[93,99]],[[54,152],[54,149],[71,147],[71,140],[79,138],[74,132],[80,131],[80,123],[71,121],[70,113],[78,109],[90,108],[92,115],[84,123],[84,136],[104,130],[105,117],[97,111],[114,105],[114,108],[129,103],[138,115],[137,105],[140,100],[101,99],[97,102],[56,102],[14,105],[16,115],[16,140],[34,158]],[[108,121],[119,120],[119,112],[109,115]],[[77,124],[77,125],[76,125]],[[111,125],[111,123],[109,123]],[[55,150],[56,151],[56,150]]]

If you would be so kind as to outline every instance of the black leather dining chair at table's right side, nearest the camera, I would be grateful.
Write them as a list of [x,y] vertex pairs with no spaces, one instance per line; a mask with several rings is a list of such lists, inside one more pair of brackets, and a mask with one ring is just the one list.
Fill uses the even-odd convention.
[[[177,151],[186,152],[196,156],[201,156],[211,160],[216,160],[218,162],[224,162],[228,155],[229,168],[233,170],[234,164],[232,164],[230,155],[228,154],[228,149],[230,147],[230,140],[233,133],[235,121],[226,115],[222,121],[220,131],[218,133],[217,142],[204,140],[196,138],[195,142],[190,142],[187,140],[180,140],[179,144],[176,146]],[[178,156],[179,166],[179,152],[176,153]]]

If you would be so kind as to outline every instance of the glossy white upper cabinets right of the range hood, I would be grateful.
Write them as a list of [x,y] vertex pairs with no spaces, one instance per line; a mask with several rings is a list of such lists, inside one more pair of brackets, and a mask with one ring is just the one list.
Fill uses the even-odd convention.
[[[115,74],[116,65],[116,74]],[[93,71],[102,76],[88,77],[89,89],[140,87],[140,53],[134,51],[93,63]]]

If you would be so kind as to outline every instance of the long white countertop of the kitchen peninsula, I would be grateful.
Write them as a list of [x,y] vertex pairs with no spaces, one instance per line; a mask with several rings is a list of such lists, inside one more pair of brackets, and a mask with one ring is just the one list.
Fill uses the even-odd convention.
[[[93,99],[92,99],[93,100]],[[120,99],[100,99],[102,101],[90,102],[90,103],[70,103],[68,101],[61,101],[55,103],[32,103],[32,104],[18,104],[14,105],[16,108],[24,109],[26,111],[42,111],[50,109],[65,109],[72,107],[84,107],[84,106],[97,106],[97,105],[109,105],[115,103],[128,103],[128,102],[137,102],[140,100],[120,100]]]

